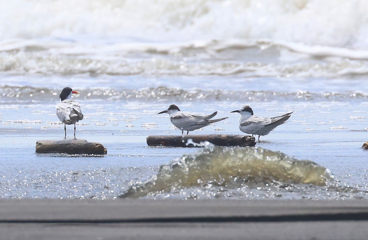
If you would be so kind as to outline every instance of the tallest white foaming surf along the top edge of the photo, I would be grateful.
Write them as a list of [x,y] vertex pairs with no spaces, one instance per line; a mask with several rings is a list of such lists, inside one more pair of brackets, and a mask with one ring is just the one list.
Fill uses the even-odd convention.
[[367,49],[367,9],[365,0],[14,0],[0,9],[0,40],[239,38]]

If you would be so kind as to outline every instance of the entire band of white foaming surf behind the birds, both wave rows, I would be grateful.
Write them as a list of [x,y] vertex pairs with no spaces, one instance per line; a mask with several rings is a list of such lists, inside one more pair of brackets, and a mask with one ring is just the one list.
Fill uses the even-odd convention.
[[367,11],[364,0],[15,0],[0,8],[0,73],[366,76]]

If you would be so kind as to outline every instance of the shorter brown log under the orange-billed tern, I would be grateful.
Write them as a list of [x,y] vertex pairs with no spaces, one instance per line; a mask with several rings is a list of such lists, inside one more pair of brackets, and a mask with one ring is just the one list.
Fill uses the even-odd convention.
[[36,153],[50,152],[68,154],[106,154],[107,150],[98,142],[87,142],[82,139],[36,141]]

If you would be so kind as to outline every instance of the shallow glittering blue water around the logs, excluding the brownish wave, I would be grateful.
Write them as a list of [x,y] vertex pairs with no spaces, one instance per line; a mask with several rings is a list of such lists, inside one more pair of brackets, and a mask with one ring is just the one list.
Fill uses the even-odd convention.
[[[204,85],[214,84],[213,81],[201,77],[193,77],[192,80],[204,82]],[[227,81],[226,86],[231,88],[232,83],[238,82],[239,79],[229,78]],[[298,81],[289,80],[291,85],[294,82]],[[169,86],[170,84],[172,83],[168,83]],[[182,89],[179,92],[186,92],[184,95],[187,95],[187,92],[200,94],[187,87],[185,82],[181,84],[181,88],[175,88],[176,91]],[[219,82],[213,86],[214,89],[221,88]],[[338,86],[335,85],[335,88]],[[144,89],[146,88],[139,91],[145,91]],[[278,88],[275,88],[276,92],[277,90]],[[29,90],[21,90],[20,95],[27,95],[27,91]],[[102,143],[107,148],[107,155],[102,157],[36,154],[34,151],[37,140],[63,138],[63,125],[57,121],[54,109],[57,97],[50,93],[36,93],[35,95],[47,96],[47,100],[8,98],[0,105],[0,131],[3,136],[0,195],[3,198],[106,199],[126,193],[131,186],[145,184],[154,179],[163,166],[170,166],[183,154],[191,155],[199,150],[146,146],[145,138],[148,135],[181,134],[179,130],[174,129],[166,114],[166,116],[157,115],[169,104],[177,103],[185,111],[208,114],[216,110],[218,117],[229,116],[229,119],[193,131],[192,134],[241,133],[238,129],[238,114],[229,112],[244,104],[251,105],[255,114],[259,116],[276,116],[294,111],[288,123],[277,127],[267,136],[261,136],[261,141],[257,142],[256,147],[280,151],[299,160],[312,160],[329,169],[334,178],[328,180],[324,186],[302,184],[290,179],[279,180],[274,176],[263,176],[267,180],[256,182],[244,180],[241,184],[235,185],[230,182],[215,186],[213,181],[209,181],[200,186],[182,188],[176,186],[172,191],[151,192],[148,197],[244,199],[367,197],[365,166],[367,158],[366,152],[360,148],[367,140],[365,128],[367,111],[364,109],[368,103],[364,98],[345,95],[337,101],[329,98],[294,100],[274,96],[276,100],[241,98],[235,101],[232,95],[233,91],[237,90],[216,91],[223,95],[218,101],[212,98],[182,100],[180,95],[161,100],[152,98],[106,100],[101,94],[96,95],[97,99],[88,99],[85,96],[90,91],[82,90],[81,94],[75,97],[83,106],[85,116],[77,124],[77,138]],[[365,92],[365,89],[360,91]],[[229,98],[226,98],[227,96]],[[269,99],[268,96],[265,98]],[[177,101],[172,102],[173,99]],[[72,137],[72,134],[72,127],[68,126],[68,137]]]

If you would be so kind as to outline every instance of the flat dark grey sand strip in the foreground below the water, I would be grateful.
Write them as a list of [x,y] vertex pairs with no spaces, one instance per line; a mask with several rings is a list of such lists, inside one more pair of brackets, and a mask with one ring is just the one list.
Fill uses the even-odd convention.
[[368,201],[1,200],[2,239],[367,239]]

